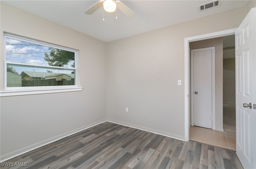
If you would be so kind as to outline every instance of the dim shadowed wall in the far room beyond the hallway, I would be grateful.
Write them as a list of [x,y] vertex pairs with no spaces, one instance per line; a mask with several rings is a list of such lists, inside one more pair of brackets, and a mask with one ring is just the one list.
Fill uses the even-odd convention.
[[236,104],[235,58],[223,60],[223,103]]

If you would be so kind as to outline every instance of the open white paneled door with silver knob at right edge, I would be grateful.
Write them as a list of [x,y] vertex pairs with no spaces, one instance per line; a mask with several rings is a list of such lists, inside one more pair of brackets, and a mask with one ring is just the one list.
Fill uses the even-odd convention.
[[[247,107],[249,103],[252,108]],[[236,153],[245,169],[256,168],[254,104],[256,106],[256,8],[250,10],[236,30]]]

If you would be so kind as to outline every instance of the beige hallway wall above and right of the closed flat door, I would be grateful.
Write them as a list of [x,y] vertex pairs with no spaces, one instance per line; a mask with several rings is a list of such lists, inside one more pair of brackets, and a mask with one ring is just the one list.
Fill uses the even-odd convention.
[[223,40],[222,37],[195,41],[190,43],[190,49],[215,47],[215,130],[223,131]]

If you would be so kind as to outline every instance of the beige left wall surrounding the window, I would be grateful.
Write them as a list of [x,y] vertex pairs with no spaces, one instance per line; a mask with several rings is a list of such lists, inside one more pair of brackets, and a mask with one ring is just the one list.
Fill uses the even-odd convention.
[[[3,31],[79,50],[82,91],[0,97],[1,160],[106,120],[106,43],[1,4]],[[0,53],[3,89],[3,47]]]

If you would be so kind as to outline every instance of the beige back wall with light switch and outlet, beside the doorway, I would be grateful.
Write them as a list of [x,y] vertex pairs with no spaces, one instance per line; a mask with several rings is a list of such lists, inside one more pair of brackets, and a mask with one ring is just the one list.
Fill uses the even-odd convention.
[[109,42],[107,119],[184,139],[184,38],[237,28],[245,15],[238,8]]

